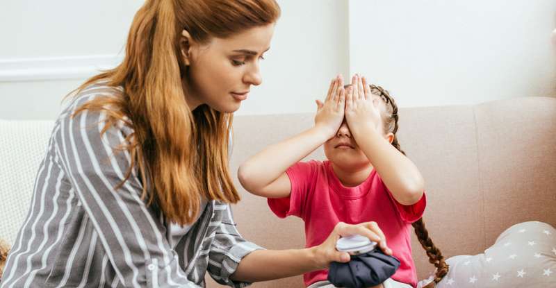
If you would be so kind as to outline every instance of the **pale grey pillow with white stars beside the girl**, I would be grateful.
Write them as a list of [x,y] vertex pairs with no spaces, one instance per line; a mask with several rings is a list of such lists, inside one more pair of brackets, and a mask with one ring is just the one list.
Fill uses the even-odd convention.
[[437,288],[556,287],[556,229],[539,221],[518,223],[484,254],[457,255],[446,262],[450,271]]

